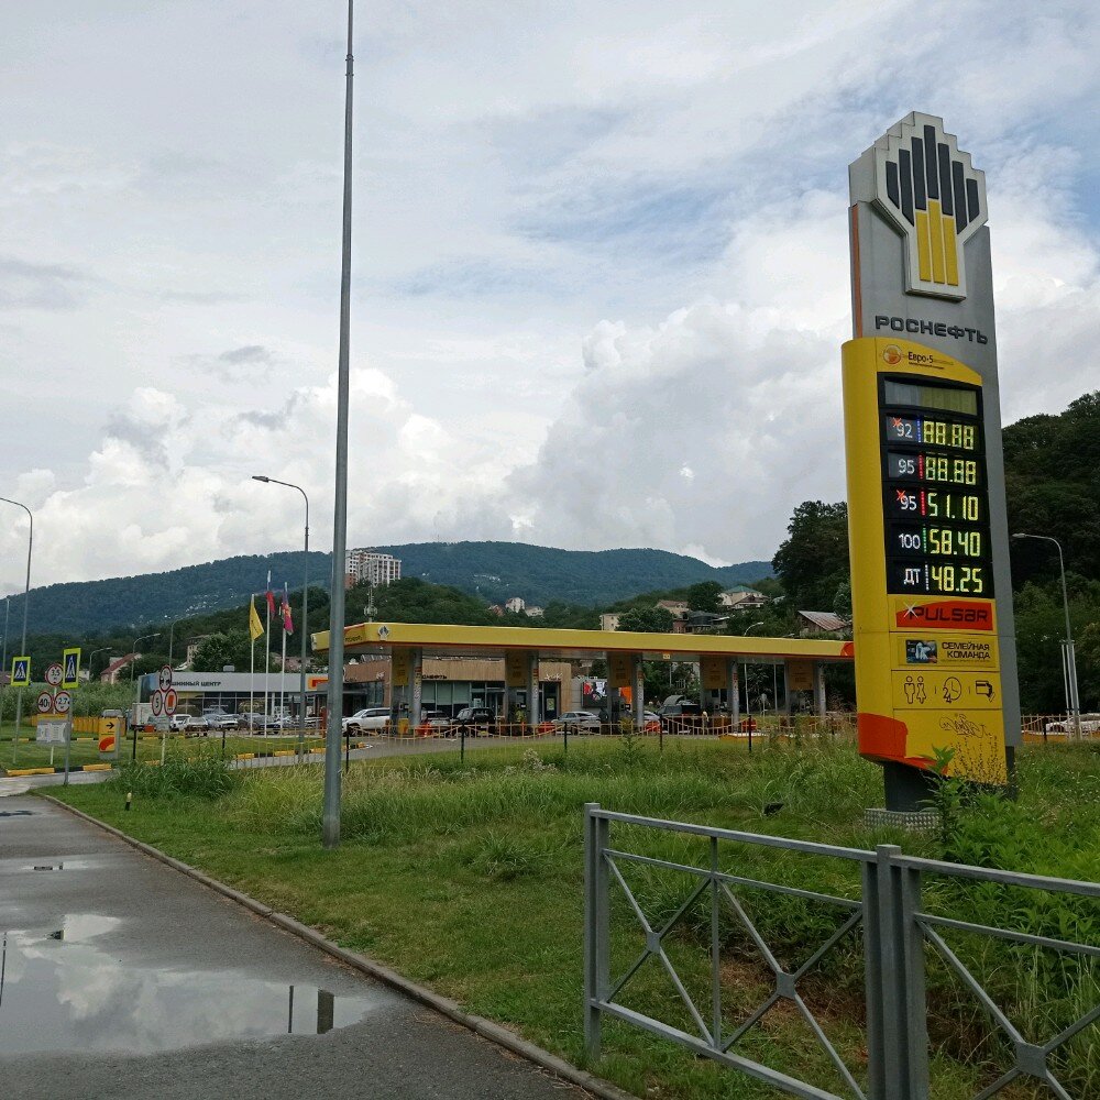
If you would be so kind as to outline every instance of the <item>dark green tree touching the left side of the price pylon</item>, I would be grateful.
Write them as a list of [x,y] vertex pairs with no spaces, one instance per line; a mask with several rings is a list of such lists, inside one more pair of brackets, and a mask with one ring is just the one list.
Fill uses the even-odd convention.
[[849,583],[848,506],[804,501],[771,560],[795,610],[827,610]]

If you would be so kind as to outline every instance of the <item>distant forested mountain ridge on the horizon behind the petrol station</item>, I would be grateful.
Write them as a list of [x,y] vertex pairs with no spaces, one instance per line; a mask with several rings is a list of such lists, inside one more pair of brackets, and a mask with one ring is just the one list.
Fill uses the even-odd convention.
[[[558,550],[516,542],[430,542],[378,547],[402,559],[405,576],[460,588],[484,604],[521,596],[529,604],[565,601],[603,606],[637,592],[679,588],[697,581],[723,585],[770,574],[768,562],[715,569],[663,550]],[[301,587],[302,553],[227,558],[167,573],[51,584],[31,590],[29,631],[87,635],[170,623],[233,607],[272,583]],[[329,554],[309,556],[310,585],[328,588]],[[21,622],[23,595],[12,595],[9,637]],[[122,632],[125,632],[122,630]]]

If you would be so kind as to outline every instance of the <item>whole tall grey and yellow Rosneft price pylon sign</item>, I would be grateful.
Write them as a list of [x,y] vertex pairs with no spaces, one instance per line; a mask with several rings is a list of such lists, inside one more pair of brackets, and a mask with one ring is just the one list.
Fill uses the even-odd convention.
[[843,350],[859,751],[887,809],[1021,744],[986,178],[912,113],[849,166]]

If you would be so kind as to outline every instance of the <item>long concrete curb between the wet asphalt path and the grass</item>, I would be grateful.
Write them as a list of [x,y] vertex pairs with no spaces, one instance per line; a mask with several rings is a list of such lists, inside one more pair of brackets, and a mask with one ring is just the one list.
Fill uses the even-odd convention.
[[79,817],[89,825],[101,828],[105,833],[109,833],[124,844],[130,845],[130,847],[144,853],[144,855],[152,856],[153,859],[160,860],[162,864],[166,864],[168,867],[183,872],[196,882],[209,887],[216,893],[237,902],[238,905],[244,906],[250,912],[264,917],[264,920],[292,933],[299,939],[306,941],[306,943],[311,944],[314,947],[320,948],[332,958],[339,959],[354,970],[359,970],[360,974],[364,974],[369,978],[374,978],[391,989],[396,989],[398,992],[405,993],[406,997],[411,998],[414,1001],[435,1009],[441,1015],[447,1016],[448,1020],[469,1028],[474,1034],[488,1040],[491,1043],[495,1043],[497,1046],[504,1047],[506,1050],[510,1050],[513,1054],[519,1055],[521,1058],[526,1058],[528,1062],[554,1074],[562,1080],[569,1081],[571,1085],[576,1085],[592,1096],[600,1097],[601,1100],[638,1100],[634,1093],[625,1092],[617,1086],[612,1085],[610,1081],[605,1081],[587,1072],[587,1070],[578,1069],[576,1066],[565,1062],[564,1058],[559,1058],[558,1055],[551,1054],[549,1050],[543,1050],[542,1047],[537,1046],[535,1043],[529,1043],[527,1040],[520,1038],[515,1032],[508,1031],[503,1024],[463,1011],[458,1001],[452,1001],[449,997],[443,997],[441,993],[437,993],[426,986],[420,986],[396,970],[384,966],[382,963],[376,963],[374,959],[367,958],[365,955],[359,955],[355,952],[350,952],[341,947],[339,944],[332,943],[331,939],[327,939],[316,928],[296,921],[286,913],[276,913],[271,905],[264,905],[263,902],[258,902],[254,898],[241,893],[240,890],[234,890],[232,887],[226,886],[224,882],[219,882],[218,879],[210,878],[209,875],[191,867],[189,864],[185,864],[182,859],[176,859],[174,856],[161,851],[160,848],[154,848],[151,844],[145,844],[144,840],[138,840],[113,825],[108,825],[98,817],[92,817],[91,814],[86,814],[82,810],[77,810],[75,806],[70,806],[68,803],[62,802],[51,794],[40,794],[37,796],[52,802],[55,806],[59,806],[62,810],[73,814],[75,817]]

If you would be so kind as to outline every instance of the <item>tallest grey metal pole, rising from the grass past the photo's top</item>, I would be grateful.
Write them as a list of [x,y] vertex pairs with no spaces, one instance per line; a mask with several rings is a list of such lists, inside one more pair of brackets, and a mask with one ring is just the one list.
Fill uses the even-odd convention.
[[[343,249],[340,263],[340,360],[337,369],[337,469],[332,507],[332,587],[329,603],[329,705],[324,738],[324,805],[321,835],[326,848],[340,844],[340,733],[343,716],[344,556],[348,549],[348,391],[351,353],[351,108],[352,16],[348,0],[348,59],[344,77]],[[333,736],[336,730],[336,736]]]

